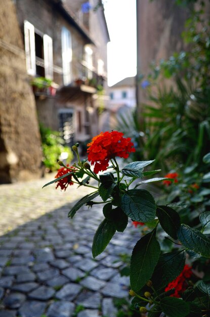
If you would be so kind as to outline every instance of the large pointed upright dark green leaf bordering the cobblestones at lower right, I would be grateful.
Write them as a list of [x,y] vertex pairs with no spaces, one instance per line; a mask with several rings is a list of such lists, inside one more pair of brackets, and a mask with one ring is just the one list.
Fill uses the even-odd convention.
[[160,256],[156,230],[143,236],[135,245],[131,257],[131,288],[138,293],[151,278]]

